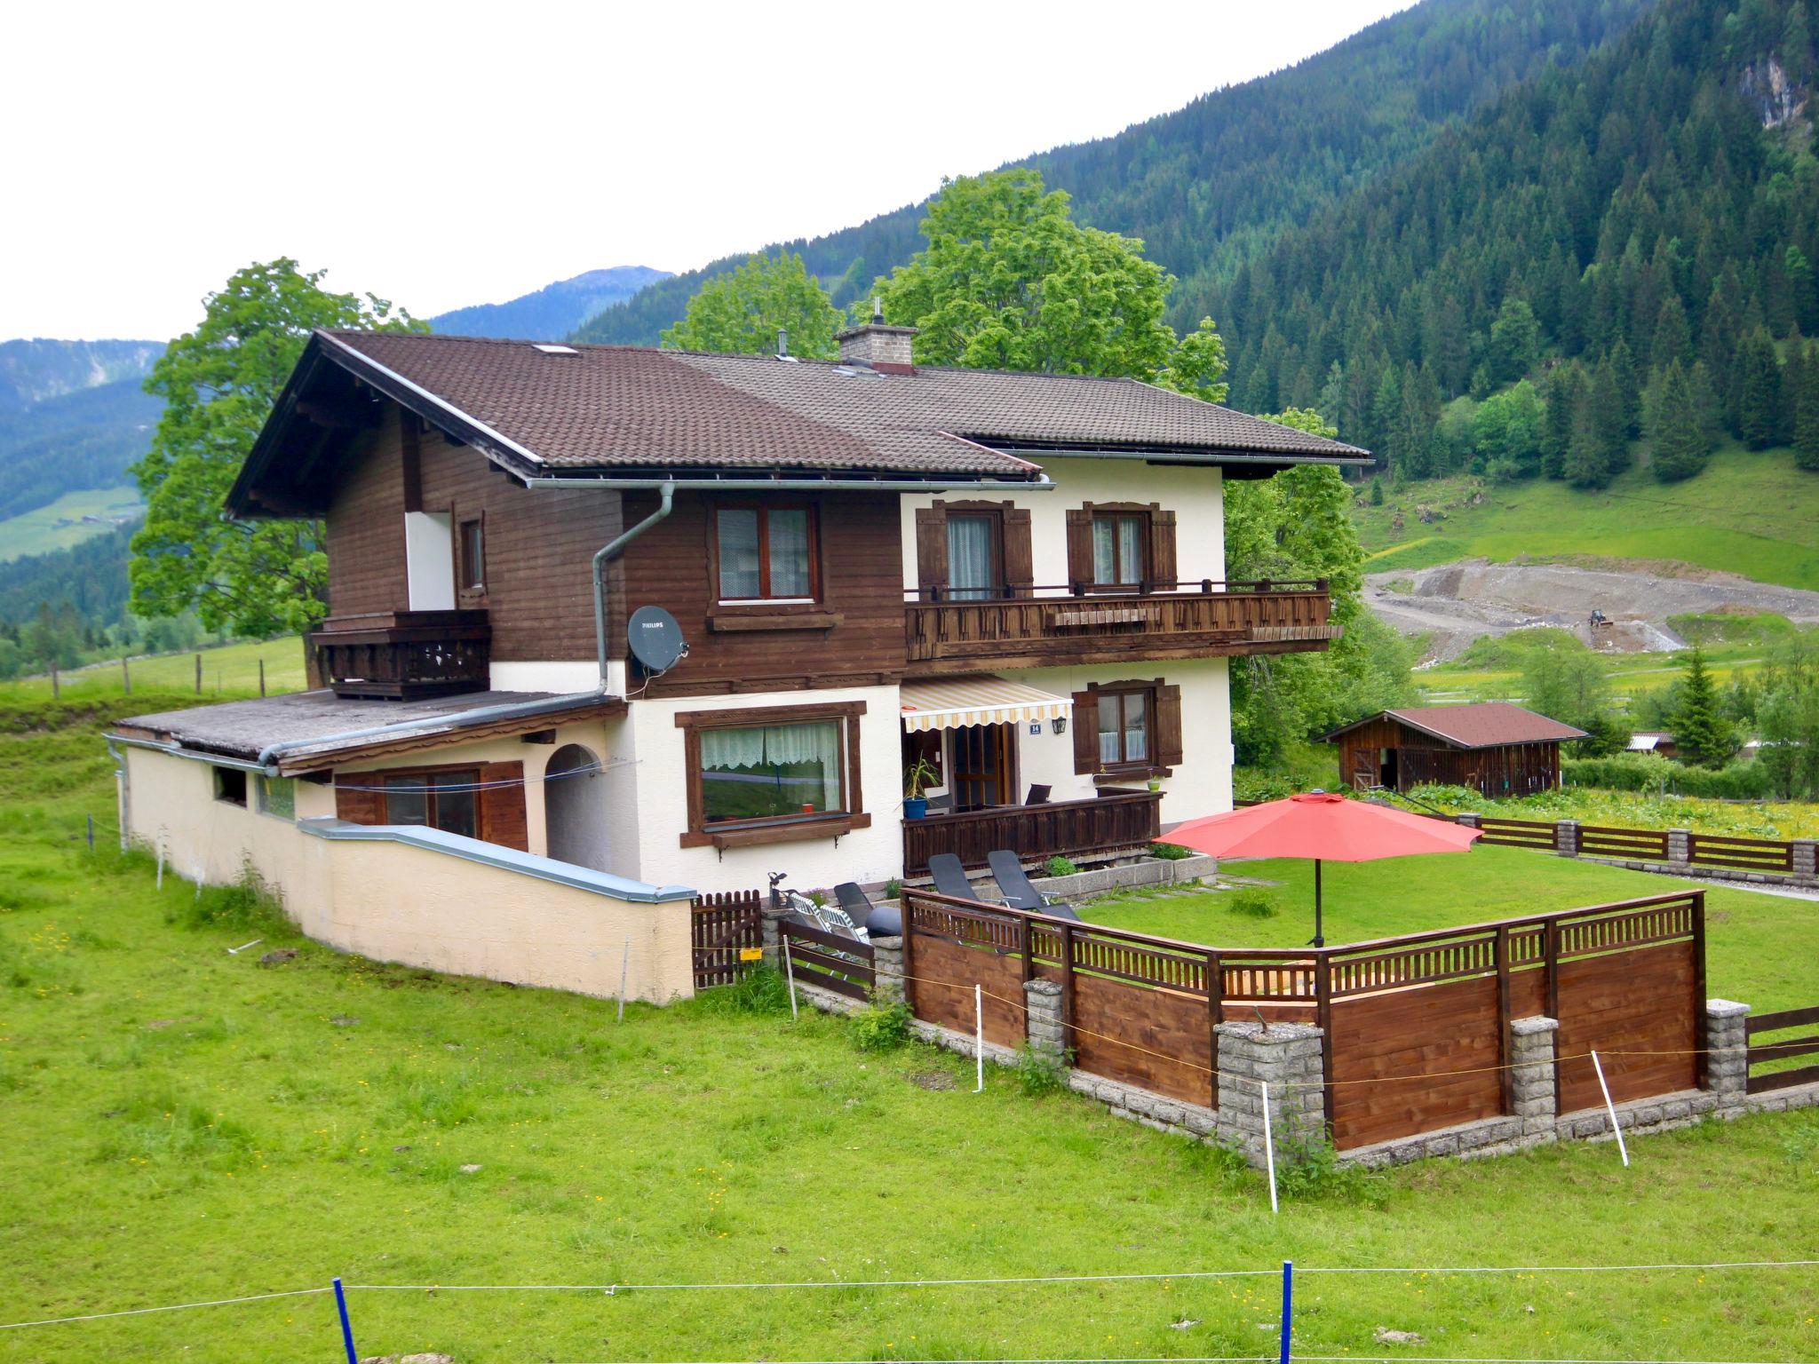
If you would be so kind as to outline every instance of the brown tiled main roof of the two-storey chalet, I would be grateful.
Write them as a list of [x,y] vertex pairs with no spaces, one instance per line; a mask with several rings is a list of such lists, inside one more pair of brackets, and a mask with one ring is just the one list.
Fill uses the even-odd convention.
[[833,362],[624,346],[548,355],[531,342],[367,331],[326,340],[338,364],[382,366],[555,469],[1028,478],[1033,466],[1013,451],[1164,451],[1210,464],[1364,458],[1352,446],[1128,378],[877,375]]

